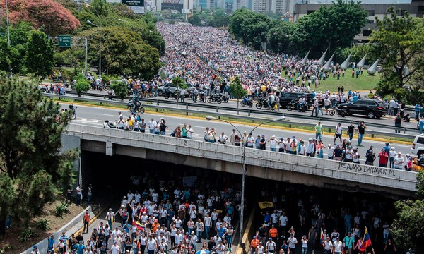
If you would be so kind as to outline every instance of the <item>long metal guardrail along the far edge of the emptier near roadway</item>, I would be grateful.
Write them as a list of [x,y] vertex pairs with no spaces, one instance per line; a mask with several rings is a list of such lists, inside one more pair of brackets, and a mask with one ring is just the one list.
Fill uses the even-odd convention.
[[[86,98],[86,97],[74,97],[74,96],[69,96],[69,95],[56,95],[56,94],[45,94],[45,96],[47,97],[57,97],[57,98],[65,98],[65,99],[74,99],[76,101],[85,101],[85,102],[98,102],[100,104],[102,103],[109,103],[109,104],[117,104],[117,105],[126,105],[127,102],[122,102],[120,100],[107,100],[105,101],[105,99],[95,99],[95,98]],[[154,101],[158,101],[158,100],[154,100]],[[162,101],[160,101],[162,102]],[[179,105],[183,106],[183,107],[165,107],[165,106],[160,106],[159,102],[157,104],[143,104],[143,107],[146,108],[152,108],[155,109],[156,112],[159,111],[159,109],[165,109],[165,110],[170,110],[170,111],[183,111],[186,113],[186,115],[188,115],[189,113],[195,113],[195,114],[205,114],[205,115],[213,115],[216,116],[218,119],[220,117],[229,117],[229,118],[233,118],[233,119],[245,119],[245,120],[249,120],[252,121],[252,123],[255,123],[256,121],[264,121],[263,117],[258,117],[258,116],[250,116],[250,114],[248,116],[241,116],[241,115],[235,115],[235,114],[225,114],[225,113],[220,113],[218,112],[218,109],[230,109],[230,110],[234,110],[233,108],[230,107],[218,107],[216,106],[216,113],[212,113],[210,111],[201,111],[199,109],[189,109],[189,104],[188,103],[179,103]],[[215,108],[215,107],[213,107]],[[271,112],[267,112],[267,113],[271,113]],[[270,115],[270,114],[267,114]],[[272,114],[274,116],[281,116],[282,114]],[[288,116],[288,117],[293,117],[293,115],[289,115],[289,114],[283,114],[284,116]],[[298,115],[295,115],[299,118]],[[305,118],[305,117],[302,117]],[[316,118],[313,118],[315,120],[317,120]],[[331,119],[334,120],[334,119]],[[338,119],[339,121],[340,119]],[[350,122],[350,121],[349,121]],[[289,128],[291,128],[292,126],[307,126],[307,127],[314,127],[315,124],[314,123],[302,123],[302,122],[294,122],[294,121],[290,121],[290,120],[286,120],[284,122],[285,124],[288,125]],[[371,126],[371,125],[369,125]],[[385,127],[384,125],[375,125],[378,126],[380,128]],[[323,128],[326,129],[329,133],[334,132],[334,126],[330,126],[330,125],[323,125]],[[372,131],[372,130],[367,130],[367,134],[370,134],[372,137],[374,137],[375,135],[385,135],[385,136],[389,136],[389,137],[396,137],[396,138],[410,138],[413,139],[415,138],[415,134],[411,133],[411,134],[406,134],[406,128],[394,128],[394,126],[387,126],[387,128],[389,128],[391,131],[394,130],[399,130],[399,131],[403,131],[404,133],[394,133],[394,132],[386,132],[386,131]]]

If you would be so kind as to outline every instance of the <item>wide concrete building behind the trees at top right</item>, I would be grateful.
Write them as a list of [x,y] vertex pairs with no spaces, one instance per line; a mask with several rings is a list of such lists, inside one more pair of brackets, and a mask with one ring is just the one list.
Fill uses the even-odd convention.
[[[303,2],[307,4],[302,4]],[[311,1],[306,1],[306,0],[298,1],[294,7],[294,13],[293,13],[294,21],[297,22],[299,18],[302,18],[303,16],[306,16],[307,14],[313,13],[314,11],[318,11],[322,5],[331,6],[331,2],[328,4],[319,4],[318,2],[316,2],[317,4],[311,4]],[[325,2],[325,1],[323,0],[321,2]],[[355,37],[356,41],[366,42],[367,40],[369,40],[372,30],[377,29],[376,18],[383,19],[384,15],[387,14],[387,9],[390,8],[391,6],[394,6],[399,16],[404,15],[404,13],[408,11],[408,13],[412,17],[416,17],[418,16],[419,7],[421,7],[421,15],[424,12],[424,0],[413,1],[415,3],[411,3],[411,1],[409,1],[409,3],[404,3],[404,4],[396,4],[396,2],[399,2],[399,1],[394,1],[394,3],[390,3],[390,1],[380,1],[380,2],[384,2],[386,4],[383,4],[383,3],[360,4],[363,7],[363,9],[367,12],[368,16],[367,16],[367,23],[365,23],[360,34]]]

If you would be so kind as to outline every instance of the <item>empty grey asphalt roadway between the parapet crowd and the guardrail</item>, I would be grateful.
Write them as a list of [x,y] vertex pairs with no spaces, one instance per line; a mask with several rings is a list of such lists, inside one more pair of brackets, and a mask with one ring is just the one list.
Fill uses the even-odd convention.
[[[63,104],[64,108],[67,107],[66,104]],[[101,107],[87,107],[87,106],[77,106],[76,109],[77,118],[76,120],[73,120],[73,123],[88,125],[88,126],[98,126],[102,127],[103,122],[105,120],[109,121],[117,121],[119,118],[119,110],[118,109],[108,109],[108,108],[101,108]],[[122,111],[122,115],[124,117],[129,116],[131,114],[129,111]],[[218,135],[222,131],[225,132],[225,135],[230,135],[232,132],[232,126],[228,123],[224,123],[222,121],[206,121],[200,120],[200,119],[192,119],[192,118],[184,118],[184,116],[167,116],[167,115],[161,115],[161,114],[141,114],[141,117],[145,119],[146,122],[150,121],[151,118],[155,120],[159,120],[160,117],[164,117],[167,123],[167,133],[166,135],[170,135],[172,131],[175,129],[176,126],[182,126],[184,123],[187,123],[187,125],[191,124],[192,128],[194,129],[193,138],[196,140],[203,140],[204,137],[204,131],[206,126],[210,128],[215,128]],[[293,119],[286,119],[287,121],[293,120]],[[249,133],[254,126],[252,125],[246,125],[246,124],[240,124],[236,123],[235,126],[240,130],[240,132],[247,131]],[[264,134],[267,139],[271,138],[271,135],[276,135],[277,138],[283,137],[283,138],[292,138],[295,136],[295,138],[302,138],[303,140],[307,141],[308,138],[314,138],[314,133],[306,133],[304,131],[293,131],[293,130],[280,130],[277,128],[265,128],[265,127],[259,127],[257,128],[253,135],[256,138],[256,136],[260,134]],[[328,144],[331,144],[333,146],[334,140],[333,135],[324,135],[322,137],[323,143],[325,146]],[[343,138],[346,138],[346,135],[343,136]],[[357,139],[353,139],[353,146],[357,144]],[[338,143],[338,142],[337,142]],[[361,157],[361,160],[365,159],[365,152],[368,149],[369,145],[374,145],[375,152],[378,154],[378,152],[384,147],[384,142],[379,141],[373,141],[373,140],[363,140],[363,147],[359,147],[359,154]],[[396,147],[396,151],[402,152],[403,155],[406,153],[411,153],[411,145],[402,145],[402,144],[391,144],[390,146]],[[267,147],[267,149],[269,149]],[[377,162],[375,162],[377,164]]]

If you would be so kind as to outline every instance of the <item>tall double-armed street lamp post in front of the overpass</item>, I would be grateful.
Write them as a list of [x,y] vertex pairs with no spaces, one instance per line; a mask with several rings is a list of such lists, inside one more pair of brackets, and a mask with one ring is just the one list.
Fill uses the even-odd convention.
[[[265,123],[273,123],[276,121],[283,121],[285,119],[284,116],[278,117],[277,119],[273,119],[270,121],[265,121],[263,123],[259,123],[259,125],[255,126],[254,128],[252,128],[252,131],[249,131],[249,133],[253,133],[254,130],[256,130],[256,128],[258,128],[259,126],[264,125]],[[240,137],[242,137],[242,133],[240,133],[240,131],[237,129],[237,127],[234,126],[234,124],[230,123],[229,121],[225,121],[223,119],[217,119],[216,117],[213,116],[206,116],[206,120],[218,120],[218,121],[223,121],[225,123],[230,124],[232,127],[234,127],[238,133],[240,134]],[[245,213],[245,179],[246,179],[246,145],[245,143],[243,143],[243,155],[242,155],[242,200],[240,202],[240,247],[241,248],[245,248],[245,243],[243,243],[243,220],[244,220],[244,213]]]

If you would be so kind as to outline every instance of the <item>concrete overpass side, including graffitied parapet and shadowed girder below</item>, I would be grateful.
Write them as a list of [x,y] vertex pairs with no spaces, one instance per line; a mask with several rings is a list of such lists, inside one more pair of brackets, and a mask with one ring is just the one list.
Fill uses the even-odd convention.
[[[126,155],[232,174],[242,174],[242,147],[206,143],[70,123],[62,136],[64,147],[82,152]],[[336,162],[269,150],[247,149],[247,176],[341,191],[376,192],[411,196],[416,192],[416,173],[382,167]]]

